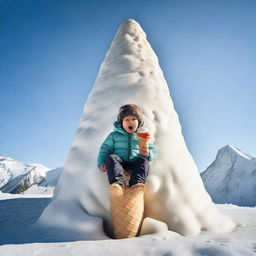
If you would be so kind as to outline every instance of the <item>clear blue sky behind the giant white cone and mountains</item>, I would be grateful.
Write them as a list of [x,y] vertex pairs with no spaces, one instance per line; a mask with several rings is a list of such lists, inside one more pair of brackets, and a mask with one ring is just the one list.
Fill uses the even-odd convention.
[[0,155],[63,166],[119,25],[158,55],[200,171],[231,144],[256,156],[256,1],[0,0]]

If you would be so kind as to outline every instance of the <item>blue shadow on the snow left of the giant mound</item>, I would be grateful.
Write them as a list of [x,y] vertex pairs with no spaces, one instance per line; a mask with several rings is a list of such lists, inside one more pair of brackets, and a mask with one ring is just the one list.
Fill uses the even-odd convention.
[[85,240],[80,232],[35,224],[50,201],[51,198],[0,200],[0,245]]

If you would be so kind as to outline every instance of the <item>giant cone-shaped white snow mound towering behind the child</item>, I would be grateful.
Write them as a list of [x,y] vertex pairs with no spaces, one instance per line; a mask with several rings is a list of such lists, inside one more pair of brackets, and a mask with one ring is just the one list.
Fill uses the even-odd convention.
[[109,184],[96,159],[118,109],[127,103],[142,107],[159,149],[146,184],[145,217],[185,236],[232,231],[234,222],[213,204],[186,147],[158,58],[131,19],[120,26],[100,67],[54,199],[39,223],[83,231],[84,239],[104,239],[104,220],[110,234]]

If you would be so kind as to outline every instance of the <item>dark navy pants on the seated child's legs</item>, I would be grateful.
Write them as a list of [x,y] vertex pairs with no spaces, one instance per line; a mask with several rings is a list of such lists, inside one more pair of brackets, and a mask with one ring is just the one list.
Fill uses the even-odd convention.
[[149,162],[146,158],[139,157],[131,162],[123,161],[117,155],[109,155],[106,159],[108,181],[110,184],[118,182],[125,184],[125,169],[130,170],[129,186],[145,183],[149,171]]

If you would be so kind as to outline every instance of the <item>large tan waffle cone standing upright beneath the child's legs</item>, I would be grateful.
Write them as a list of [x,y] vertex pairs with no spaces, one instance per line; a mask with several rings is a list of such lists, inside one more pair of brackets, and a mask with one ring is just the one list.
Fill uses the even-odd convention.
[[109,188],[114,236],[117,239],[135,237],[139,234],[143,213],[146,186],[136,184],[121,187],[112,184]]

